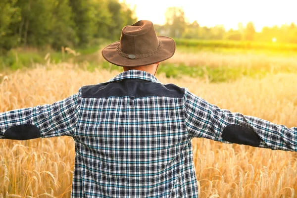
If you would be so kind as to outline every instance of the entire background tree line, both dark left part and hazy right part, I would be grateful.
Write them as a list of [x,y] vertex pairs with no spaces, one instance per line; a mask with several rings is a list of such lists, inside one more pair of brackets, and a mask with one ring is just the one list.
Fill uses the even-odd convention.
[[[173,38],[297,43],[294,23],[261,32],[252,22],[239,23],[237,30],[226,30],[187,22],[181,7],[167,8],[165,18],[155,30]],[[118,0],[0,0],[0,54],[17,47],[84,48],[101,38],[116,41],[121,29],[136,20],[135,11]]]

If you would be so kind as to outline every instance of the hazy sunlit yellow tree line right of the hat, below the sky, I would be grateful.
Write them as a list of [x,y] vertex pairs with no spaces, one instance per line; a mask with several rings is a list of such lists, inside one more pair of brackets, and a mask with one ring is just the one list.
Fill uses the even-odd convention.
[[223,25],[200,26],[198,21],[189,23],[181,7],[167,8],[165,17],[166,24],[155,25],[155,29],[159,34],[174,38],[297,43],[297,25],[294,23],[263,27],[261,32],[256,32],[252,22],[246,26],[238,23],[237,30],[226,30]]

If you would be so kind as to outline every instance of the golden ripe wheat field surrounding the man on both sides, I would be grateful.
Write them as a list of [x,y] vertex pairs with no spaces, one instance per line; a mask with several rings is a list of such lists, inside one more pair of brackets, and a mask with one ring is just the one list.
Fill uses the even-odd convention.
[[[161,66],[161,65],[160,65]],[[83,85],[105,82],[117,72],[88,72],[76,65],[37,65],[2,75],[0,112],[52,103]],[[288,127],[297,125],[297,74],[244,78],[210,84],[207,79],[168,79],[203,99],[231,111]],[[194,163],[201,198],[297,197],[297,153],[206,139],[193,139]],[[29,141],[0,140],[0,198],[70,197],[74,141],[69,137]]]

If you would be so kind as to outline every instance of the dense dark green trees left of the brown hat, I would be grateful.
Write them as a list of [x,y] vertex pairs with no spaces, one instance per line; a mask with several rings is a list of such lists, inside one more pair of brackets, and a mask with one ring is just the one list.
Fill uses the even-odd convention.
[[118,40],[134,10],[118,0],[0,0],[0,53],[16,47],[88,47]]

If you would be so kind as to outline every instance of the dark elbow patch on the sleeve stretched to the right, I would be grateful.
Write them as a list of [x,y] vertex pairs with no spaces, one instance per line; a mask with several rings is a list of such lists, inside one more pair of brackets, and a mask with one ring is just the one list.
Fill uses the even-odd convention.
[[252,147],[258,147],[261,140],[252,129],[236,124],[227,126],[223,130],[222,138],[231,143]]

